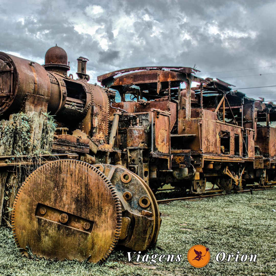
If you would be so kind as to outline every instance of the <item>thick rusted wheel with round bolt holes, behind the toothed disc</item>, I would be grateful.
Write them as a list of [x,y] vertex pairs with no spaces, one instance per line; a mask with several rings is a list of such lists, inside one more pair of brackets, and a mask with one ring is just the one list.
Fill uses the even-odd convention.
[[[114,185],[123,205],[123,234],[119,244],[135,251],[154,246],[161,219],[158,203],[147,183],[120,165],[95,164]],[[120,195],[123,195],[121,198]],[[128,222],[128,223],[126,223]]]

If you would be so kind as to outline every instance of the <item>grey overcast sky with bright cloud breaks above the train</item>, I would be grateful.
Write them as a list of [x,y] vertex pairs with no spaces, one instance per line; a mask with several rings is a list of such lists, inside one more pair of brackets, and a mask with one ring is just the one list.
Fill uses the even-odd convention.
[[[198,76],[236,88],[276,85],[275,0],[1,0],[0,9],[0,51],[44,64],[57,43],[73,75],[76,58],[89,59],[92,83],[117,69],[196,64],[209,73]],[[256,67],[266,68],[211,74]],[[276,87],[240,91],[276,102]]]

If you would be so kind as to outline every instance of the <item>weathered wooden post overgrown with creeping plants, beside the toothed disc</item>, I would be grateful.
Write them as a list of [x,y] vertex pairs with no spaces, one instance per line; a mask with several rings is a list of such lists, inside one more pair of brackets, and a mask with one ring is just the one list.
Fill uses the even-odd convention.
[[43,154],[51,154],[57,124],[50,113],[16,113],[9,121],[0,121],[0,155],[15,163],[6,171],[3,219],[11,225],[10,212],[18,187],[26,177],[43,163]]

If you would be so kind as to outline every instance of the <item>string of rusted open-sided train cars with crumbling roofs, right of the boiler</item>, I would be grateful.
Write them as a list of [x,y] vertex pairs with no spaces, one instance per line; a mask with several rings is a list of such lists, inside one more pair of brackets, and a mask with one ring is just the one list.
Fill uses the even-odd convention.
[[[111,125],[120,113],[114,145],[125,156],[124,166],[153,190],[170,183],[203,194],[273,183],[275,128],[269,122],[276,120],[275,106],[195,72],[140,67],[98,77],[121,96],[112,103],[109,120]],[[206,190],[206,181],[216,189]]]

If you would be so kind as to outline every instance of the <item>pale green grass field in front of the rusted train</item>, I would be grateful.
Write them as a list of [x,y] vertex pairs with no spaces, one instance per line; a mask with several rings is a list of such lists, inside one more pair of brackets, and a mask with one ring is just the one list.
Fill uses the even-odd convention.
[[[160,254],[182,254],[180,262],[154,265],[128,263],[127,253],[116,250],[103,265],[78,261],[47,261],[20,256],[10,229],[0,229],[1,275],[276,275],[276,189],[239,193],[160,205]],[[207,266],[187,261],[193,245],[210,249]],[[257,254],[256,262],[217,262],[216,254]],[[126,264],[125,264],[126,262]]]

